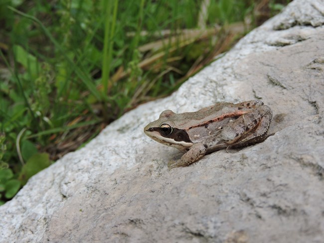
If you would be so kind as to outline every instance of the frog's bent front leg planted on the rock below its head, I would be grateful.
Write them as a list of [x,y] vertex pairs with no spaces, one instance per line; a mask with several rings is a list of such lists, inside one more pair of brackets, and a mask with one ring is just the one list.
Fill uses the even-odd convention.
[[189,151],[182,155],[182,157],[175,161],[170,161],[167,164],[169,169],[179,167],[179,166],[188,166],[197,160],[199,160],[206,153],[206,148],[202,143],[194,143]]

